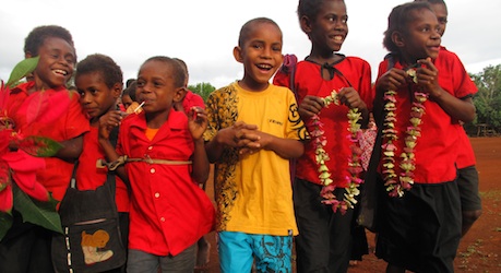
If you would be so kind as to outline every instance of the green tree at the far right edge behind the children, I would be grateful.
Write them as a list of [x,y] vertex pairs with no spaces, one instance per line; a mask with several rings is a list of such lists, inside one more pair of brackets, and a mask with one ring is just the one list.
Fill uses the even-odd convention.
[[472,79],[478,87],[474,96],[477,108],[475,123],[501,127],[501,64],[486,67],[482,72],[472,75]]

